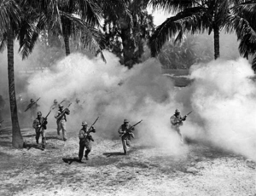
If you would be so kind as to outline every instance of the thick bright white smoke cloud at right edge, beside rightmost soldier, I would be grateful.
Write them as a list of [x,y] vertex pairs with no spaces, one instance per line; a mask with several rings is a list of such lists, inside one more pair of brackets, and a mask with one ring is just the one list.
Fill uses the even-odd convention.
[[256,89],[251,65],[243,59],[212,61],[191,67],[194,82],[186,89],[194,115],[185,124],[189,137],[255,157]]

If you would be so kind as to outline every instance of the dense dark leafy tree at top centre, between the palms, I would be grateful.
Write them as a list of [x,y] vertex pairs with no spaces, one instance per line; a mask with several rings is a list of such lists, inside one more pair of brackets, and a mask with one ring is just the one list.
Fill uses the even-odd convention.
[[147,3],[131,1],[126,10],[119,9],[113,14],[104,10],[104,49],[120,58],[121,64],[131,68],[141,61],[144,46],[154,32],[153,17],[147,12]]

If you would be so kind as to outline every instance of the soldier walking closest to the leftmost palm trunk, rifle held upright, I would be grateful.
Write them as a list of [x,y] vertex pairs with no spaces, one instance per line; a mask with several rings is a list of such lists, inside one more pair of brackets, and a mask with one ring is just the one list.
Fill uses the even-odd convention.
[[42,112],[38,111],[38,117],[34,119],[32,127],[36,130],[36,141],[38,144],[38,140],[40,135],[42,135],[42,148],[45,148],[46,140],[45,133],[46,130],[47,118],[42,117]]

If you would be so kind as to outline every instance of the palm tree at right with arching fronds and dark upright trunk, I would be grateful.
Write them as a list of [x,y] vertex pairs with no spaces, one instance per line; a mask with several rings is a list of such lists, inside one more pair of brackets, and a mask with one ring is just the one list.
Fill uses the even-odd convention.
[[214,58],[219,57],[219,32],[225,26],[225,19],[230,14],[230,0],[151,0],[154,9],[165,9],[169,12],[177,12],[175,16],[166,19],[156,28],[149,40],[152,55],[160,51],[164,43],[176,36],[180,41],[183,33],[213,32]]

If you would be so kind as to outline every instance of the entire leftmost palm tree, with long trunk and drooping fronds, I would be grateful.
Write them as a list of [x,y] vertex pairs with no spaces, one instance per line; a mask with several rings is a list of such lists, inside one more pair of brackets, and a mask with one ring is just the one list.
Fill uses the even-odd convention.
[[[27,9],[28,7],[25,6],[24,8]],[[31,19],[31,13],[28,10],[25,12],[20,6],[20,2],[15,0],[2,0],[0,2],[0,49],[4,49],[7,45],[13,147],[23,147],[24,143],[20,133],[15,95],[14,41],[16,38],[20,40],[19,51],[23,58],[32,52],[34,46],[32,34],[35,29],[30,23]]]

